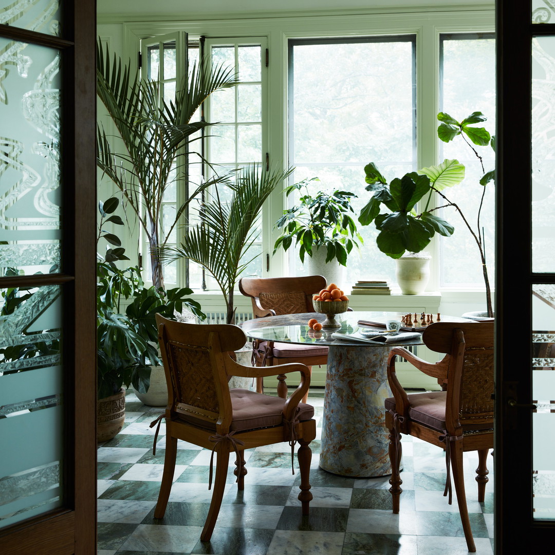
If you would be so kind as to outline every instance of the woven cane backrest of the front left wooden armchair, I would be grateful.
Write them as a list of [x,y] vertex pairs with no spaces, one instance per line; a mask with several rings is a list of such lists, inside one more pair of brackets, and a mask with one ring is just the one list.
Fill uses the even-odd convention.
[[229,426],[231,400],[224,356],[245,344],[245,334],[226,324],[199,325],[156,315],[171,411],[201,427]]

